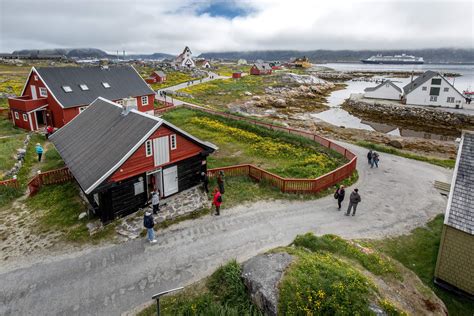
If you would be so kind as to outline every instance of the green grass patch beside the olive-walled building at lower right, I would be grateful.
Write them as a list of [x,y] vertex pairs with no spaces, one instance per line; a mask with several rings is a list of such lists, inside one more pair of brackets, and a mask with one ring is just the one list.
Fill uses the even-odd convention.
[[451,315],[472,316],[473,301],[443,290],[433,283],[443,219],[442,215],[438,215],[426,227],[416,228],[409,235],[370,240],[368,243],[415,272],[443,300]]

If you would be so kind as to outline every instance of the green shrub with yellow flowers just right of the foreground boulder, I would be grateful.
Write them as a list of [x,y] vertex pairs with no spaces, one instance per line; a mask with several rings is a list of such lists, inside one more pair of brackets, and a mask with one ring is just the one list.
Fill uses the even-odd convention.
[[299,253],[280,284],[282,315],[367,315],[374,285],[330,253]]

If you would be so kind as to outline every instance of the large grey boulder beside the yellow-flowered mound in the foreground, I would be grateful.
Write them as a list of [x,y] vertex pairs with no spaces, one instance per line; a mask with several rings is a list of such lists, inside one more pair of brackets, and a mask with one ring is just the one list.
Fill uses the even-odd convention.
[[242,264],[242,278],[250,297],[265,315],[277,315],[278,284],[292,260],[287,253],[269,253]]

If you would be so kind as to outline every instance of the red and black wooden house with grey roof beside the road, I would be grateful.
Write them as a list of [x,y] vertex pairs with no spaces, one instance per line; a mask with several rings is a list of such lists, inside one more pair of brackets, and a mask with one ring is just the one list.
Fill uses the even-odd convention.
[[50,137],[90,204],[107,222],[200,183],[217,147],[163,119],[98,98]]

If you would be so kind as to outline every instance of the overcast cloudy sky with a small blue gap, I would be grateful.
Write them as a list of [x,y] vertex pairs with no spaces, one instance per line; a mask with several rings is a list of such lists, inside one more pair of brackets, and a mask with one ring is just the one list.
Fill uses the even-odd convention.
[[473,48],[474,1],[0,0],[0,52]]

